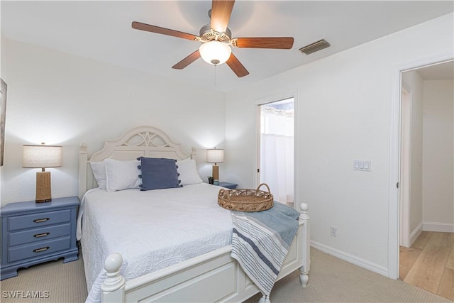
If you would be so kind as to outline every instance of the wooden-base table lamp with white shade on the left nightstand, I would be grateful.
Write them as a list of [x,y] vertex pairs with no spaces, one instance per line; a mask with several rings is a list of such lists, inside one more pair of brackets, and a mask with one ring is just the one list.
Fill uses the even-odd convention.
[[50,202],[50,172],[46,167],[62,166],[62,147],[55,145],[23,145],[22,167],[41,168],[36,172],[36,203]]

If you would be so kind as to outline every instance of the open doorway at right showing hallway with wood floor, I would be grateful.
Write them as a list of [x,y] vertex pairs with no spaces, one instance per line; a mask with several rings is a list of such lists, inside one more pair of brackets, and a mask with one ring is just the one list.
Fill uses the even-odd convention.
[[454,299],[454,64],[402,72],[399,278]]

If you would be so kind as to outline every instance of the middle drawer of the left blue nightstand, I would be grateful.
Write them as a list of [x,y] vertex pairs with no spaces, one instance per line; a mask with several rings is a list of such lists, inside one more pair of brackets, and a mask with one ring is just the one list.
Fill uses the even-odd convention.
[[70,236],[71,224],[60,224],[55,226],[45,226],[33,228],[28,231],[16,231],[9,234],[9,246],[16,246],[24,243],[44,241],[51,238]]

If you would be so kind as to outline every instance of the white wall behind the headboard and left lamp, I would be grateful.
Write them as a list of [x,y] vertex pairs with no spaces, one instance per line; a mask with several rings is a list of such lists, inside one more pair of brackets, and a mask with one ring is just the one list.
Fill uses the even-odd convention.
[[80,143],[91,155],[134,126],[161,128],[188,152],[200,148],[204,180],[211,172],[204,148],[223,147],[223,93],[13,40],[2,40],[1,60],[8,84],[2,205],[35,199],[37,170],[21,167],[23,144],[63,146],[62,167],[49,169],[52,197],[77,195]]

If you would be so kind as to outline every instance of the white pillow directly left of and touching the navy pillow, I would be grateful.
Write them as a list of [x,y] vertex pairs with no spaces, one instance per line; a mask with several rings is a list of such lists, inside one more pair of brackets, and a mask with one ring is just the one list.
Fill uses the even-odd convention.
[[115,192],[128,188],[138,188],[140,185],[140,161],[119,161],[104,159],[106,163],[106,189]]

